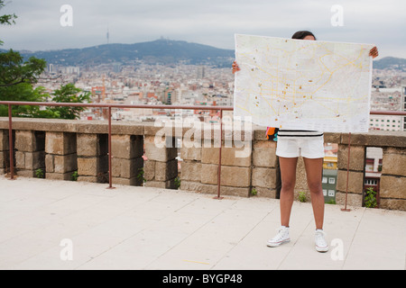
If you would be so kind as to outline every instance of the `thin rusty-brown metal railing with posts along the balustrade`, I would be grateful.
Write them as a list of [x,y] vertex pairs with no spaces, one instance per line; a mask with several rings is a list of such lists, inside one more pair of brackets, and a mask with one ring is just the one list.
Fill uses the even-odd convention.
[[[117,103],[49,103],[49,102],[17,102],[17,101],[0,101],[0,105],[8,106],[8,130],[9,130],[9,149],[10,149],[10,179],[14,180],[14,157],[13,157],[13,105],[28,105],[28,106],[51,106],[51,107],[87,107],[87,108],[107,108],[108,109],[108,182],[107,189],[114,189],[112,181],[112,153],[111,153],[111,109],[112,108],[137,108],[137,109],[165,109],[165,110],[202,110],[202,111],[219,111],[220,121],[220,147],[217,168],[217,196],[215,199],[222,199],[220,196],[221,187],[221,150],[223,142],[223,111],[234,111],[230,106],[206,106],[206,105],[132,105],[132,104],[117,104]],[[392,116],[406,116],[406,112],[401,111],[371,111],[371,115],[392,115]],[[347,209],[347,194],[348,194],[348,175],[349,175],[349,161],[350,161],[350,148],[351,148],[351,133],[348,133],[348,163],[346,174],[346,203],[342,211],[350,211]]]

